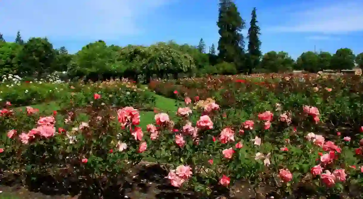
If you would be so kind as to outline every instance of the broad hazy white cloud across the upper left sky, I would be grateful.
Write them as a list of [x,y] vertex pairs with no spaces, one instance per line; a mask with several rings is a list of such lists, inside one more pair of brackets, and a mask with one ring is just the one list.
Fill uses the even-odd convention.
[[110,39],[138,34],[137,20],[170,0],[0,1],[0,32],[23,38]]

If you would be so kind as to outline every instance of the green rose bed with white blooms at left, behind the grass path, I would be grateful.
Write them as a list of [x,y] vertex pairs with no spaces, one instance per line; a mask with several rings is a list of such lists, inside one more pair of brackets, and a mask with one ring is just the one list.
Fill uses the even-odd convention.
[[44,102],[57,101],[77,106],[86,106],[94,101],[94,93],[102,96],[102,102],[108,106],[134,106],[139,109],[152,110],[155,97],[145,88],[128,81],[105,81],[89,84],[23,82],[18,84],[0,85],[0,103],[7,101],[14,106],[27,106]]

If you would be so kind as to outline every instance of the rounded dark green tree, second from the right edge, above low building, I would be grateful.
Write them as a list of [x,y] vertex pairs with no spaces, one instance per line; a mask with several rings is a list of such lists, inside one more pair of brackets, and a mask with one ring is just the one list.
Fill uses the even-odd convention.
[[355,55],[349,48],[340,48],[331,58],[330,69],[343,70],[353,69]]

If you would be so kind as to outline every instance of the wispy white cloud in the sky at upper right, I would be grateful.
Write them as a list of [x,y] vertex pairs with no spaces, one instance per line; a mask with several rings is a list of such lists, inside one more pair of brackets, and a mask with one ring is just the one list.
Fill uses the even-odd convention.
[[[344,34],[363,31],[363,1],[327,1],[324,6],[311,4],[310,9],[296,10],[281,18],[286,24],[270,27],[276,32]],[[284,14],[282,14],[284,15]]]

